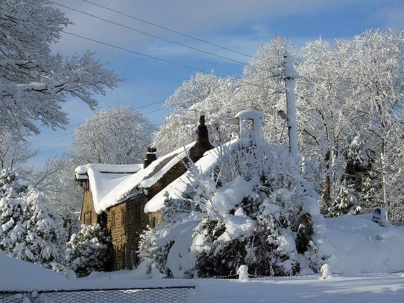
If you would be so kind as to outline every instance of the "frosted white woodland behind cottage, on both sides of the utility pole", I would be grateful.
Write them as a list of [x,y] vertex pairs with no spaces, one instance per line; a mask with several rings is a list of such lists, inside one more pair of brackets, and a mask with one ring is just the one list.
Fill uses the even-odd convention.
[[[401,222],[404,219],[398,210],[404,184],[401,169],[403,36],[402,31],[392,29],[366,30],[349,39],[309,41],[299,52],[293,50],[287,39],[276,36],[259,47],[256,59],[244,67],[241,81],[217,85],[219,79],[206,77],[215,81],[211,85],[215,89],[189,94],[189,103],[186,93],[176,94],[182,96],[182,102],[170,103],[175,107],[174,113],[157,133],[155,144],[160,144],[159,149],[165,153],[192,141],[199,114],[205,114],[207,124],[212,120],[220,125],[219,128],[208,125],[211,140],[226,141],[237,128],[231,117],[244,108],[265,113],[263,134],[266,139],[285,141],[285,121],[278,116],[278,111],[286,107],[284,83],[274,76],[279,74],[278,63],[287,49],[296,55],[294,67],[300,74],[295,89],[299,155],[304,157],[304,163],[320,161],[312,180],[322,195],[322,212],[328,215],[333,202],[340,199],[339,195],[347,196],[349,191],[360,197],[357,203],[362,205],[362,211],[369,211],[366,204],[369,207],[391,204],[388,211]],[[204,83],[206,85],[207,81]],[[192,79],[183,85],[184,88],[199,87]],[[205,100],[195,96],[204,96]],[[358,129],[369,133],[366,140],[378,150],[371,168],[372,176],[363,181],[368,193],[357,192],[351,180],[343,181],[345,169],[349,170],[345,148]],[[345,189],[343,184],[346,184]]]

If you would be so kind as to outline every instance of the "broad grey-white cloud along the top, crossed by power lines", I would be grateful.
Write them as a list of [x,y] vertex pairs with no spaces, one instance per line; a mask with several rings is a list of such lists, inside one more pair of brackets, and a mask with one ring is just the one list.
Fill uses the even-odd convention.
[[[69,1],[68,3],[56,0],[56,2],[128,27],[163,36],[167,39],[186,41],[187,44],[192,43],[192,40],[80,0]],[[252,22],[259,24],[266,20],[276,20],[288,15],[299,16],[308,12],[313,13],[330,9],[340,2],[336,0],[291,0],[285,5],[284,2],[276,0],[256,0],[252,2],[244,0],[125,0],[110,2],[104,0],[97,1],[96,3],[179,32],[196,36],[203,33],[205,36],[208,33],[222,33],[226,29],[237,28],[244,23]],[[66,8],[56,7],[66,12],[70,20],[75,23],[74,25],[68,26],[66,31],[120,47],[136,49],[139,52],[144,49],[144,46],[150,44],[166,44],[163,41],[158,42],[159,40],[156,40],[156,38],[130,29],[122,28],[118,25],[98,20]],[[222,40],[221,44],[226,41],[227,39]],[[77,37],[69,37],[67,34],[64,34],[63,39],[60,43],[55,45],[54,48],[63,53],[66,52],[66,54],[70,54],[72,51],[84,52],[86,49],[93,47],[94,42]],[[97,48],[98,47],[100,47],[100,45],[98,45]]]

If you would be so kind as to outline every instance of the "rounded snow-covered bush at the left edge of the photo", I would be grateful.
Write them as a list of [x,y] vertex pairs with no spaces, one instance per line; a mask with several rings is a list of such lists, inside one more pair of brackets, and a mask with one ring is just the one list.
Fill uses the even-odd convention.
[[42,193],[29,187],[20,192],[16,174],[2,171],[0,249],[15,258],[60,270],[65,259],[66,234],[60,216]]

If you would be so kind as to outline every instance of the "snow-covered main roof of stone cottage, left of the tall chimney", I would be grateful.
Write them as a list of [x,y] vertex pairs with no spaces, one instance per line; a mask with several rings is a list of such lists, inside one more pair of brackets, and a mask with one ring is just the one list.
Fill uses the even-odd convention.
[[[90,182],[95,212],[101,214],[116,204],[143,194],[142,188],[153,186],[175,164],[184,159],[189,153],[189,149],[195,144],[196,142],[193,142],[180,147],[153,161],[145,169],[140,165],[140,169],[133,174],[100,172],[97,165],[80,167],[80,172],[85,171],[85,167],[87,167],[86,173]],[[115,171],[123,172],[126,168],[115,169]]]

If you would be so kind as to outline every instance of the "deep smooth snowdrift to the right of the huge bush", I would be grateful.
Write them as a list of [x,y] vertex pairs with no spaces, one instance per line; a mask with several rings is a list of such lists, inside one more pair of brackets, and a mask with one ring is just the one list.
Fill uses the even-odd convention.
[[404,270],[404,227],[382,227],[372,214],[325,219],[314,229],[320,256],[332,272],[393,273]]

